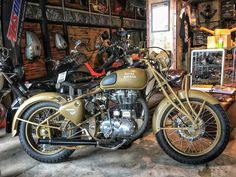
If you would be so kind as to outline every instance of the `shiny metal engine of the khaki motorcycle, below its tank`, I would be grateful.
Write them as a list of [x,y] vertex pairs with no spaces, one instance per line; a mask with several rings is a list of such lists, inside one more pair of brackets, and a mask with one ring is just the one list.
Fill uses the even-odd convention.
[[105,138],[125,138],[134,134],[137,124],[132,107],[137,97],[138,92],[132,90],[118,90],[110,94],[110,100],[116,105],[108,109],[107,116],[100,124]]

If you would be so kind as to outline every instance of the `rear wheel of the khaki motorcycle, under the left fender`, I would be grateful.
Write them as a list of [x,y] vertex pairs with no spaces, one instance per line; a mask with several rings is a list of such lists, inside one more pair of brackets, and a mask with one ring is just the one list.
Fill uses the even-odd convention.
[[[52,102],[37,103],[25,112],[23,119],[39,124],[57,112],[58,108],[59,105]],[[74,127],[62,116],[56,116],[47,121],[46,124],[58,127],[58,129],[21,122],[19,130],[21,145],[28,155],[38,161],[45,163],[61,162],[70,156],[74,150],[64,149],[61,146],[38,144],[38,139],[68,137],[73,133]],[[61,131],[62,128],[64,131]]]

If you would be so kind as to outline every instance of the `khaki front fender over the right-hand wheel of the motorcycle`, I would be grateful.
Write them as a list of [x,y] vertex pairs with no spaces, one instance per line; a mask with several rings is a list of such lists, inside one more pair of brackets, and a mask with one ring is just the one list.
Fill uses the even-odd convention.
[[[177,95],[181,100],[186,98],[184,90],[179,90],[177,92]],[[189,90],[188,95],[189,95],[189,98],[199,98],[201,100],[206,100],[208,103],[212,105],[219,104],[219,101],[217,99],[215,99],[210,94],[205,93],[205,92],[201,92],[198,90]],[[173,99],[174,95],[171,94],[170,97]],[[164,98],[155,109],[155,112],[153,114],[153,119],[152,119],[152,129],[153,129],[154,134],[160,131],[161,117],[163,116],[165,110],[170,105],[171,105],[170,101],[167,98]]]

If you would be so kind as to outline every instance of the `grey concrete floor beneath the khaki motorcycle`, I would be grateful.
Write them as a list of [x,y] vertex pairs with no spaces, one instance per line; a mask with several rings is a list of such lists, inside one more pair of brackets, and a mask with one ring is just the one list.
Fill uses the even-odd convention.
[[64,163],[44,164],[21,149],[18,137],[4,135],[0,130],[0,171],[4,177],[233,177],[236,176],[236,140],[207,165],[184,165],[172,160],[160,149],[151,133],[128,150],[86,147],[77,150]]

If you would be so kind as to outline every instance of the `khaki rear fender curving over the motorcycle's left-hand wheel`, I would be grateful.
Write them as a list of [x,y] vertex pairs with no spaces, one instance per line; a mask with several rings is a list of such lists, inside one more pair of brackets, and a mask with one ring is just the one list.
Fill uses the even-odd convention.
[[17,110],[17,112],[13,118],[13,122],[12,122],[12,136],[16,136],[18,133],[17,131],[18,131],[19,120],[17,118],[20,118],[30,106],[32,106],[38,102],[41,102],[41,101],[52,101],[52,102],[56,102],[60,105],[67,103],[66,98],[63,97],[59,93],[45,92],[45,93],[40,93],[35,96],[32,96],[31,98],[26,100]]

